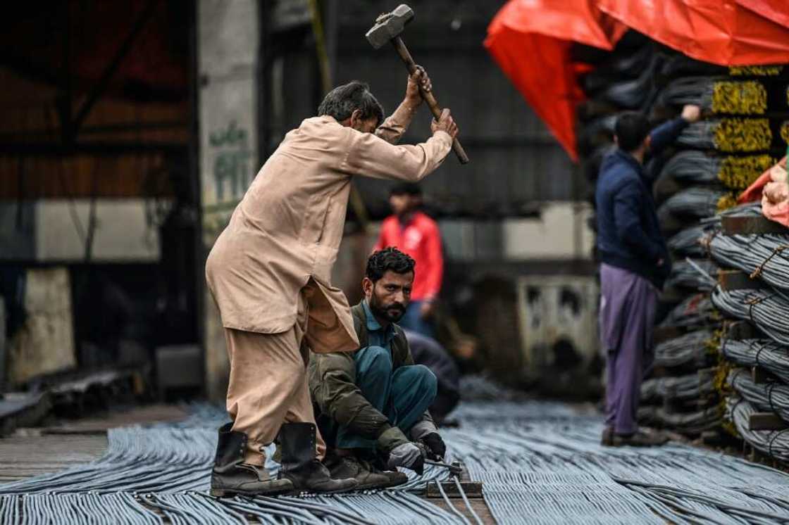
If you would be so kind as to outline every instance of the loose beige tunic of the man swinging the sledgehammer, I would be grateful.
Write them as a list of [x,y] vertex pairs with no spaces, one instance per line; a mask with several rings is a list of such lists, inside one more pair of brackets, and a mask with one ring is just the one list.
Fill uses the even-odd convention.
[[206,278],[223,326],[258,333],[290,330],[298,294],[314,281],[305,291],[310,348],[358,348],[348,301],[330,277],[351,177],[419,181],[451,149],[446,132],[417,145],[393,145],[404,131],[400,112],[375,135],[323,116],[302,121],[285,136],[208,255]]

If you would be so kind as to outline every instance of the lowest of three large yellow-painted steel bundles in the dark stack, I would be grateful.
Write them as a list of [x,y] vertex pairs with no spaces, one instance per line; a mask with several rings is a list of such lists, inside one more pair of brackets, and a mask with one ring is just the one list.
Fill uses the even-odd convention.
[[723,184],[729,189],[743,190],[776,162],[772,155],[735,157],[687,150],[671,157],[660,177],[671,177],[684,184]]

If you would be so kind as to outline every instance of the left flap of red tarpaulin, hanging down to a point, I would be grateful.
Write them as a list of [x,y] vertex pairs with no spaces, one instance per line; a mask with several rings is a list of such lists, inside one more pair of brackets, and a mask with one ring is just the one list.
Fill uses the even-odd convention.
[[488,48],[537,115],[573,158],[575,106],[584,99],[570,61],[574,42],[612,49],[626,27],[593,0],[510,0],[488,27]]

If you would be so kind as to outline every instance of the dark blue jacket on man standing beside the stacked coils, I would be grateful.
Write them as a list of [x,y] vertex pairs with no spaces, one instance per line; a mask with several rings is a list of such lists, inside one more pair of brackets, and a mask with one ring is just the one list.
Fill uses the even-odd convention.
[[[657,155],[685,128],[682,118],[668,121],[649,134],[649,152]],[[671,271],[671,263],[657,220],[652,183],[633,155],[612,150],[600,166],[597,203],[597,250],[600,260],[652,281],[658,288]],[[657,262],[664,259],[663,266]]]

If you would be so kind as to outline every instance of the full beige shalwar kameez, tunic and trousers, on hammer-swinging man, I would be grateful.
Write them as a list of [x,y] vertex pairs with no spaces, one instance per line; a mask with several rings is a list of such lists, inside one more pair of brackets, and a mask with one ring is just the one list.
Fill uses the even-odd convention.
[[302,121],[260,169],[208,255],[206,278],[230,356],[227,411],[233,430],[249,437],[249,464],[263,464],[261,449],[283,422],[314,423],[306,352],[358,348],[348,301],[330,280],[351,177],[419,181],[451,149],[443,131],[395,146],[410,117],[400,106],[376,134],[328,116]]

